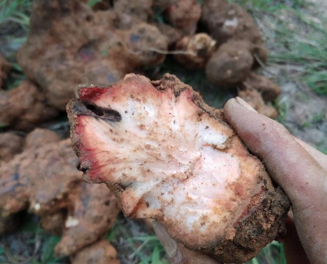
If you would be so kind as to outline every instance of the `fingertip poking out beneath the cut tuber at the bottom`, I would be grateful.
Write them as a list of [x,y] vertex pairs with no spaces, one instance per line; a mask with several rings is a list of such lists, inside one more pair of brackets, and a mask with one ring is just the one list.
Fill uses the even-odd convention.
[[160,241],[162,247],[166,250],[171,263],[173,264],[221,264],[217,260],[203,255],[199,252],[186,249],[182,244],[176,243],[169,234],[165,227],[158,222],[153,222],[153,229]]

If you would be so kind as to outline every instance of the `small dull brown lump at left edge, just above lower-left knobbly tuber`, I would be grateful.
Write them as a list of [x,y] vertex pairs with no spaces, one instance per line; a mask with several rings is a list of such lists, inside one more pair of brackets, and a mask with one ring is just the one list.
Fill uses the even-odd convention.
[[0,133],[0,162],[8,162],[22,150],[24,139],[14,132]]

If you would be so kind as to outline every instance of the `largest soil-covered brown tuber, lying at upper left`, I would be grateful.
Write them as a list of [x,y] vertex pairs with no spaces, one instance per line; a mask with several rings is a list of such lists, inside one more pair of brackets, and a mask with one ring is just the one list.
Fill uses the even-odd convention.
[[[115,2],[115,8],[121,10],[124,3]],[[108,85],[144,63],[165,58],[153,51],[167,49],[159,30],[138,23],[119,30],[120,12],[94,11],[77,0],[34,1],[30,34],[18,62],[51,105],[64,110],[79,84]],[[124,17],[128,13],[125,9]]]

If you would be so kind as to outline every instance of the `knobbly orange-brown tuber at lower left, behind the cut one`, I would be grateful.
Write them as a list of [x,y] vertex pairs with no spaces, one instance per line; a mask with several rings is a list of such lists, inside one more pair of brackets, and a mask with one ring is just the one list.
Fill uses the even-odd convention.
[[[33,131],[29,140],[40,130]],[[49,135],[50,133],[48,133]],[[114,223],[116,198],[102,184],[82,182],[70,140],[54,136],[38,142],[0,166],[0,227],[24,209],[41,217],[44,228],[62,234],[56,253],[72,254],[99,239]],[[100,199],[101,197],[101,199]]]

